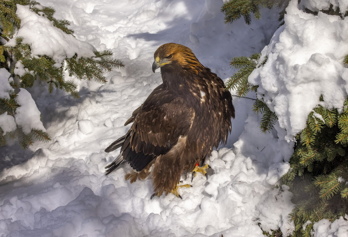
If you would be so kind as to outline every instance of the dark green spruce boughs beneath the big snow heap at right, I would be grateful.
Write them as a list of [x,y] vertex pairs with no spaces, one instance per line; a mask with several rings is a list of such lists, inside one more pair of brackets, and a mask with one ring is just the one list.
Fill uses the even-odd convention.
[[[306,129],[298,138],[289,161],[290,169],[282,177],[282,183],[288,185],[294,194],[292,201],[295,206],[290,214],[295,224],[292,236],[310,236],[313,226],[303,228],[308,221],[334,221],[348,213],[348,188],[338,179],[348,179],[348,143],[335,141],[347,128],[346,106],[347,100],[342,113],[317,106],[314,112],[321,115],[325,123],[318,119],[320,116],[312,116],[312,112],[308,115]],[[320,129],[316,129],[318,123],[321,123]],[[310,142],[303,142],[303,138]]]

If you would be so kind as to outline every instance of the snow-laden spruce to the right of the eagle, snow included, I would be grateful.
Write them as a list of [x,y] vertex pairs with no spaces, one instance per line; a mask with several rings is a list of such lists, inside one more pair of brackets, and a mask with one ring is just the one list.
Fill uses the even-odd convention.
[[[258,55],[254,57],[256,63],[251,63],[252,56],[232,59],[231,66],[238,71],[226,85],[237,95],[257,93],[253,110],[263,113],[262,131],[272,129],[268,124],[274,125],[279,118],[280,127],[288,133],[285,139],[296,139],[290,169],[282,183],[294,194],[290,216],[295,230],[291,236],[311,236],[315,223],[323,219],[333,222],[348,213],[348,182],[343,182],[348,178],[348,91],[341,90],[341,81],[348,81],[348,55],[347,50],[339,52],[334,46],[341,42],[330,38],[333,32],[346,31],[348,4],[236,0],[225,3],[222,11],[227,22],[243,16],[250,24],[251,13],[260,18],[259,6],[272,7],[275,3],[288,6],[279,18],[284,20],[284,27],[277,30],[261,54],[254,54]],[[309,36],[309,26],[319,30],[310,31]],[[323,27],[329,30],[321,31]],[[322,37],[320,42],[326,47],[313,46],[315,41],[310,38],[314,34]],[[264,234],[275,236],[274,232]]]

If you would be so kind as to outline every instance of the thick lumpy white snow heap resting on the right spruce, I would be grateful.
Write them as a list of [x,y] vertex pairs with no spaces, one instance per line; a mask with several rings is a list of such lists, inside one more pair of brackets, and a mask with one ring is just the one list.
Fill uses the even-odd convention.
[[[348,69],[342,61],[348,54],[348,18],[304,13],[296,0],[290,1],[286,13],[285,24],[261,52],[260,61],[268,56],[266,64],[248,79],[260,85],[258,95],[264,94],[286,129],[285,139],[293,140],[314,107],[342,109],[347,98]],[[320,95],[324,101],[319,101]]]

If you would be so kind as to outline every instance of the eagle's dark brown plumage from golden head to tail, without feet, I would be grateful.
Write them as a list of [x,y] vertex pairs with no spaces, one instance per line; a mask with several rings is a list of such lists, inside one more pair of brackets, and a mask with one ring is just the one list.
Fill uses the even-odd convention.
[[161,68],[163,84],[134,110],[125,123],[133,122],[127,134],[105,149],[121,147],[105,168],[109,174],[125,160],[133,168],[126,179],[134,182],[151,172],[153,191],[168,194],[183,171],[204,161],[220,142],[226,143],[235,110],[223,81],[188,47],[164,44],[154,57],[152,70]]

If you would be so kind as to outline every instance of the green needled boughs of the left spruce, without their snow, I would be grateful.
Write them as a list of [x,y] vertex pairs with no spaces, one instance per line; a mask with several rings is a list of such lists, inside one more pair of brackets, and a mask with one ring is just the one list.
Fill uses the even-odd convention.
[[[70,22],[56,19],[52,7],[44,7],[31,0],[0,0],[0,30],[3,39],[9,41],[14,38],[21,26],[20,16],[16,15],[16,4],[29,6],[32,12],[46,17],[56,28],[66,34],[73,34],[74,31],[69,29]],[[9,82],[13,89],[32,87],[35,81],[40,79],[47,83],[49,93],[57,88],[78,98],[77,84],[73,80],[66,79],[66,74],[81,80],[105,84],[107,82],[105,72],[124,67],[121,60],[113,58],[110,50],[94,52],[95,55],[90,58],[75,54],[72,58],[66,58],[62,66],[56,67],[56,62],[47,55],[33,56],[31,44],[23,43],[23,37],[14,40],[15,45],[0,44],[0,68],[6,68],[19,81],[19,83]],[[16,70],[15,67],[9,68],[9,65],[16,65],[15,67],[20,70]],[[15,75],[17,71],[21,71],[21,75]],[[16,108],[19,107],[15,100],[17,94],[14,90],[8,93],[10,98],[0,98],[0,113],[7,112],[8,115],[15,116]],[[33,129],[29,134],[25,134],[22,128],[17,127],[15,132],[3,134],[0,128],[0,146],[6,145],[7,138],[17,138],[22,148],[27,148],[34,140],[47,142],[51,139],[49,134],[42,130]]]

